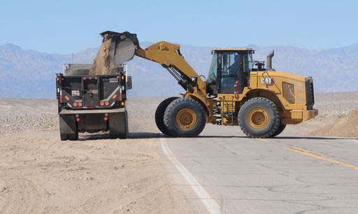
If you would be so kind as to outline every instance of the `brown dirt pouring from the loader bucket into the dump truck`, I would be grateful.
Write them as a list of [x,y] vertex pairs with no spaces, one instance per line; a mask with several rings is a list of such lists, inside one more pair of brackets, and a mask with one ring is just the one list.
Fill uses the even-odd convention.
[[112,51],[110,48],[112,42],[112,38],[109,36],[103,36],[103,42],[90,69],[90,75],[110,74],[110,71],[113,69],[113,65],[110,60]]

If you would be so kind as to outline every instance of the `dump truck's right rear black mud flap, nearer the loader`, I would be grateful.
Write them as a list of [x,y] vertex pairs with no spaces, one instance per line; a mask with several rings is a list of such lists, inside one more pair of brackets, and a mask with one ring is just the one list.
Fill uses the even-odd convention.
[[127,110],[120,113],[108,114],[110,138],[127,138],[128,115]]

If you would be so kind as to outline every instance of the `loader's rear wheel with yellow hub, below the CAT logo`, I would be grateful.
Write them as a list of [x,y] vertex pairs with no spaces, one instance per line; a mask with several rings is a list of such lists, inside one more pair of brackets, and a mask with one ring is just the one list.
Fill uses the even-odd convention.
[[264,97],[249,99],[238,112],[241,130],[250,138],[273,136],[280,127],[280,122],[280,111],[277,106]]

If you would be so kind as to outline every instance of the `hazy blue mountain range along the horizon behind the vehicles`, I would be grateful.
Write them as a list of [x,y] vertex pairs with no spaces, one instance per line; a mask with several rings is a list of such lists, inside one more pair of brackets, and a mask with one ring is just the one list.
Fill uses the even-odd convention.
[[[143,43],[146,47],[149,43]],[[358,45],[329,50],[308,50],[294,47],[253,47],[255,59],[265,60],[275,50],[273,67],[313,76],[316,92],[358,91]],[[210,47],[182,45],[185,59],[200,74],[206,76],[210,66]],[[73,55],[56,55],[35,50],[22,50],[17,45],[0,45],[0,97],[54,97],[55,73],[62,64],[92,63],[96,48]],[[166,96],[182,92],[181,87],[159,64],[135,57],[129,62],[134,79],[131,96]]]

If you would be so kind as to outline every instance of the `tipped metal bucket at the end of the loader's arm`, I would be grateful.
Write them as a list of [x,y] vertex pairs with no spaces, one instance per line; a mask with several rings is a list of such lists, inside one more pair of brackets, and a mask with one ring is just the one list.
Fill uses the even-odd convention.
[[112,38],[110,50],[113,51],[110,56],[113,59],[114,66],[120,66],[123,62],[133,59],[136,52],[136,46],[139,46],[136,34],[131,34],[128,31],[117,33],[113,31],[104,31],[101,33],[103,38],[108,36]]

